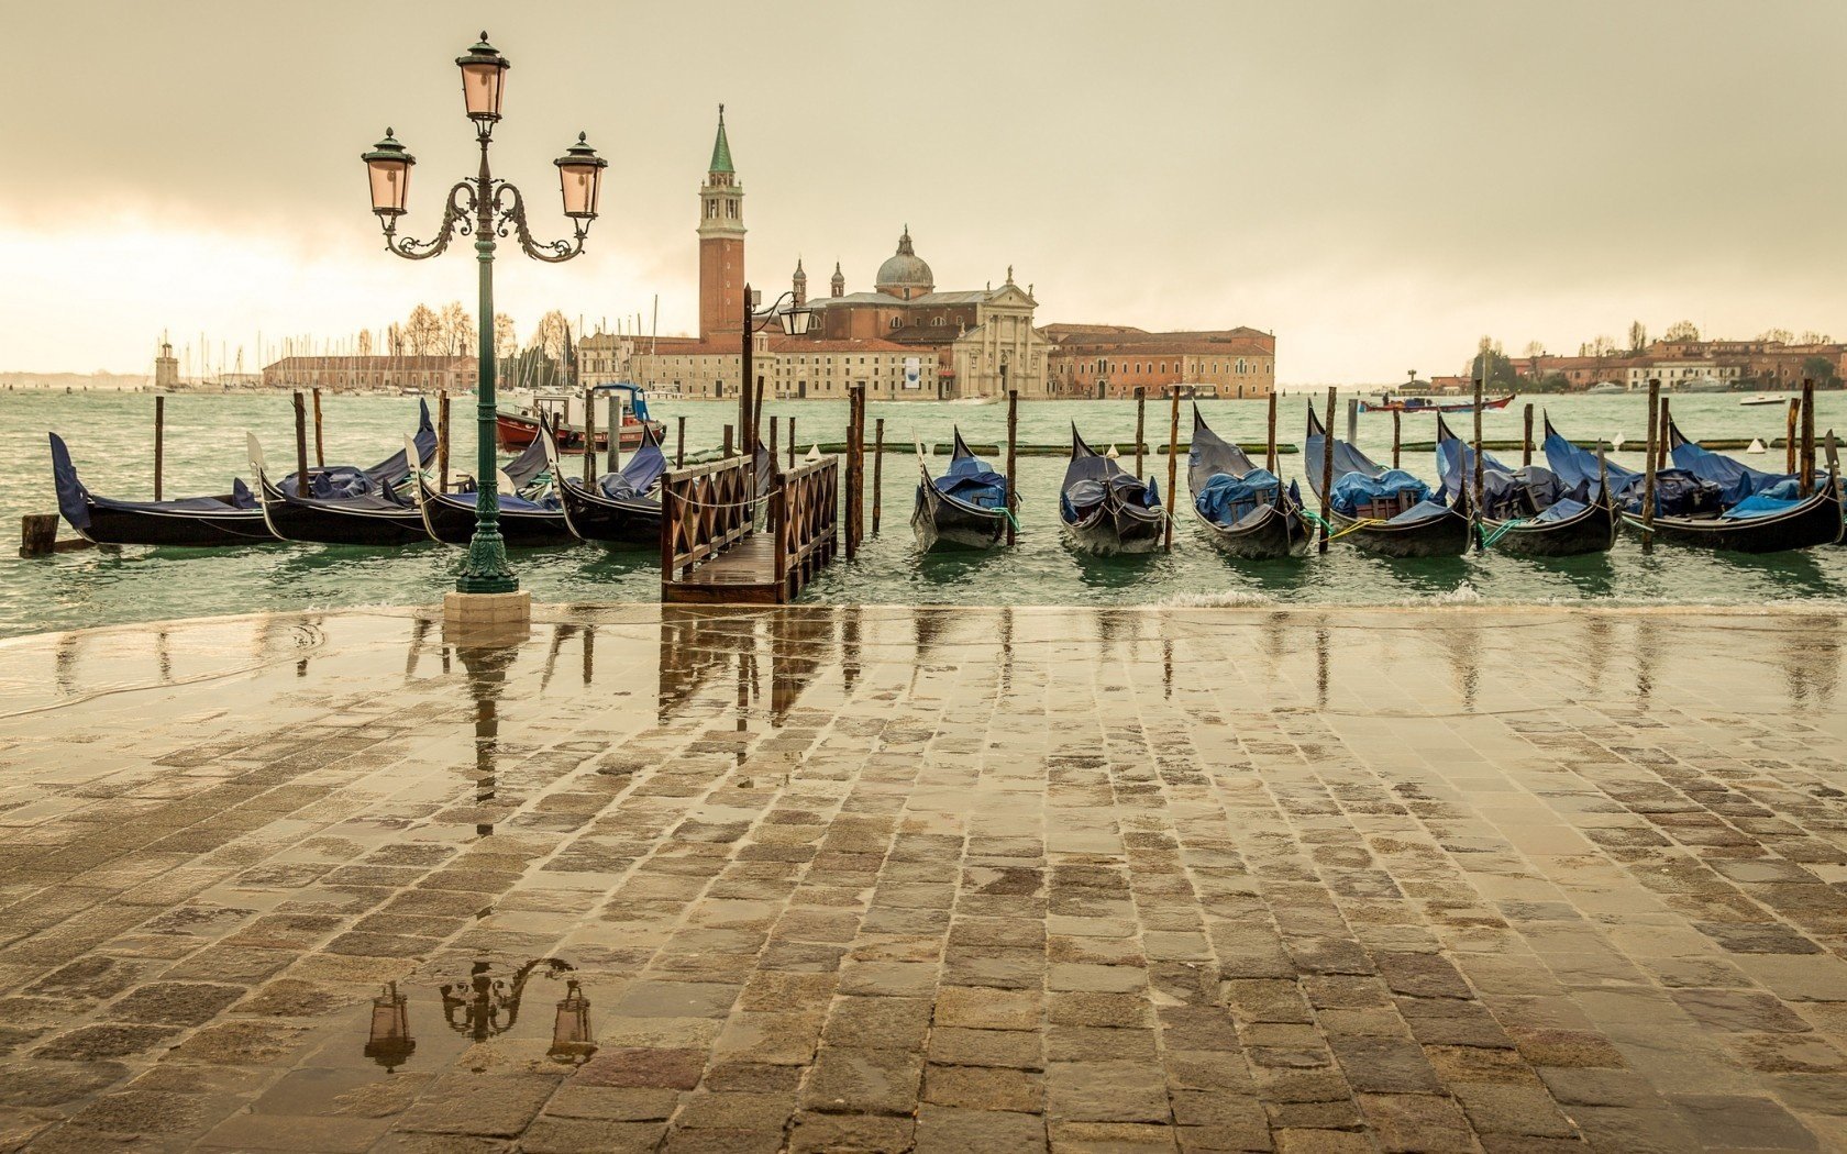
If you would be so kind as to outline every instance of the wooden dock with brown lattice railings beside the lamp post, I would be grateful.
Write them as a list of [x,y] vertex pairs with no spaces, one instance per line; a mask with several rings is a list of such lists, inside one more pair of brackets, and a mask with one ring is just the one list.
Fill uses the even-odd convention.
[[750,456],[669,469],[661,482],[661,600],[792,602],[835,556],[839,473],[831,456],[796,469],[772,463],[759,493]]

